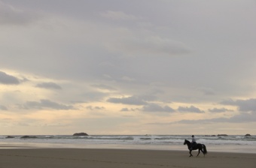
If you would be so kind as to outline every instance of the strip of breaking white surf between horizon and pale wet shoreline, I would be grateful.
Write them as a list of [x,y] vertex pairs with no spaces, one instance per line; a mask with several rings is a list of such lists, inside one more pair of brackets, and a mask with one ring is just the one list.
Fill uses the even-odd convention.
[[[36,135],[35,135],[36,136]],[[24,139],[22,136],[0,136],[0,142],[47,142],[47,143],[93,143],[93,144],[140,144],[140,145],[183,145],[184,139],[190,135],[38,135],[36,138]],[[197,142],[205,145],[256,145],[256,136],[203,136]]]

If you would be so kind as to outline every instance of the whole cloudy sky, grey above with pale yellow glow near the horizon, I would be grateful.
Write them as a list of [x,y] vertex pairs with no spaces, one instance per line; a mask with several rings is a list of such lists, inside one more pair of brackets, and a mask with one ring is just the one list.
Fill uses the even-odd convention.
[[256,1],[0,0],[0,134],[256,134]]

